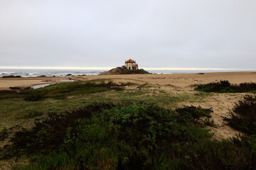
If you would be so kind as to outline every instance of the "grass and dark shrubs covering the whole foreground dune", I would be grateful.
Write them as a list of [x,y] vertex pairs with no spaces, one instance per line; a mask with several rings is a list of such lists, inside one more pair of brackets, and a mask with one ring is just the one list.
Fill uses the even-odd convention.
[[15,160],[11,169],[256,169],[255,96],[225,118],[245,135],[215,140],[206,128],[217,127],[213,109],[193,106],[213,94],[152,88],[97,79],[0,91],[0,161]]

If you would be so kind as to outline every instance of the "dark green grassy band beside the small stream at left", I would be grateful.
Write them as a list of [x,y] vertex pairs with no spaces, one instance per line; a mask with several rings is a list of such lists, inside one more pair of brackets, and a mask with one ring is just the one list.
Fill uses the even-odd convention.
[[44,98],[63,99],[67,96],[78,94],[92,94],[111,89],[119,90],[120,86],[129,84],[114,84],[112,81],[77,81],[65,84],[54,84],[40,89],[26,89],[23,91],[0,91],[0,99],[5,98],[23,98],[24,101],[40,101]]

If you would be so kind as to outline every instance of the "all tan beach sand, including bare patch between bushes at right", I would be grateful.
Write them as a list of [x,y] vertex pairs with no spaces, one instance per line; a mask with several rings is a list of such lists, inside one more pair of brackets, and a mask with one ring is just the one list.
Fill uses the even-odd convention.
[[[198,93],[193,90],[193,84],[207,84],[210,82],[228,80],[231,84],[244,82],[256,82],[256,72],[220,72],[205,74],[125,74],[125,75],[101,75],[101,76],[80,76],[80,77],[30,77],[30,78],[10,78],[0,79],[0,90],[9,90],[10,86],[33,86],[36,84],[63,83],[64,80],[73,79],[80,81],[90,81],[95,79],[111,79],[115,83],[133,82],[136,84],[149,84],[149,90],[161,90],[167,94],[189,94]],[[127,87],[136,90],[136,87]],[[218,140],[235,137],[239,134],[229,126],[225,125],[223,117],[230,116],[235,102],[242,99],[245,94],[215,94],[201,102],[181,102],[178,106],[202,106],[213,108],[212,118],[218,128],[211,128],[215,132]]]

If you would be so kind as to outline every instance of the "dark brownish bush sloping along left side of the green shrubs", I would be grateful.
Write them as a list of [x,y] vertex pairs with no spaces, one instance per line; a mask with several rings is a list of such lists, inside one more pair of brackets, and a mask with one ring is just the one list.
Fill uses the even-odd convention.
[[79,118],[90,119],[92,112],[103,108],[111,108],[111,104],[92,104],[65,114],[50,114],[48,118],[36,120],[31,130],[23,129],[16,132],[11,142],[15,154],[26,152],[49,152],[57,149],[66,135],[66,130],[73,126]]

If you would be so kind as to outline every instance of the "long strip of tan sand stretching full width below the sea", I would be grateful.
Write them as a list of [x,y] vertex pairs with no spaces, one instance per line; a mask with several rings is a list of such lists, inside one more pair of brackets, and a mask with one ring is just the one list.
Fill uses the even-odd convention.
[[174,86],[190,86],[219,80],[228,80],[230,83],[256,82],[256,72],[208,72],[208,73],[176,73],[176,74],[117,74],[91,75],[74,77],[21,77],[0,78],[0,90],[10,90],[10,86],[28,87],[37,84],[63,83],[66,79],[90,81],[94,79],[135,79],[149,81],[154,84],[172,84]]

